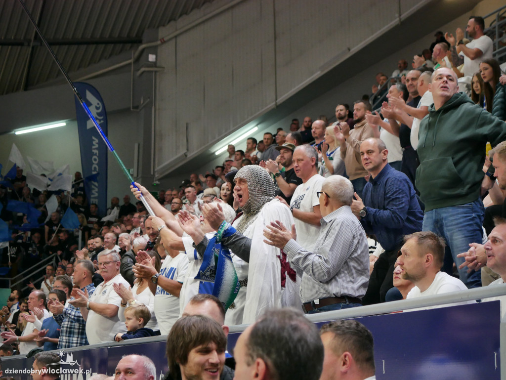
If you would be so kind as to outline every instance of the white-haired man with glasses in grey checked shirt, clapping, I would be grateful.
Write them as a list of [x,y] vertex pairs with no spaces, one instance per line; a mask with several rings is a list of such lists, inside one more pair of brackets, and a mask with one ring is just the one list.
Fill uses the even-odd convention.
[[[369,280],[367,237],[351,210],[353,185],[342,176],[323,182],[321,232],[311,251],[297,241],[295,226],[264,230],[264,240],[283,250],[291,267],[302,273],[301,301],[308,314],[362,305]],[[288,227],[288,228],[287,228]]]

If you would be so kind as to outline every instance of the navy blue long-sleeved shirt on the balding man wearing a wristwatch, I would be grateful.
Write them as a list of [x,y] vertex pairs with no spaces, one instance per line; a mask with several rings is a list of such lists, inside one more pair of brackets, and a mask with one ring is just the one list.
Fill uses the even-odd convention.
[[404,235],[421,231],[424,214],[408,177],[388,163],[376,178],[369,178],[362,192],[365,232],[376,235],[386,250],[394,249]]

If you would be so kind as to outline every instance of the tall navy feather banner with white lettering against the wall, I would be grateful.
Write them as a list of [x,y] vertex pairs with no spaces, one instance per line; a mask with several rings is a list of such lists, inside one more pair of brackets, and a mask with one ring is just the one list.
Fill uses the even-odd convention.
[[[104,131],[104,135],[107,136],[107,114],[104,101],[99,92],[88,83],[74,82],[74,85],[88,108],[90,108],[100,128]],[[103,214],[107,209],[107,145],[102,141],[95,124],[90,120],[77,98],[75,99],[75,110],[81,151],[82,177],[89,178],[100,174],[95,178],[91,177],[92,179],[88,181],[86,197],[88,203],[97,204],[100,213]]]

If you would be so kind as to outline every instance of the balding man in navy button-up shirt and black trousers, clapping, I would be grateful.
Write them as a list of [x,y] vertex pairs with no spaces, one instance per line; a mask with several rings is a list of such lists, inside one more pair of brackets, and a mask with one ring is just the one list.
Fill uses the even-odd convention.
[[402,172],[388,163],[388,149],[380,139],[370,138],[360,144],[362,165],[369,173],[362,199],[355,194],[351,209],[366,233],[375,235],[385,251],[374,263],[364,304],[385,302],[387,291],[394,287],[393,273],[403,236],[421,231],[424,215],[413,185]]

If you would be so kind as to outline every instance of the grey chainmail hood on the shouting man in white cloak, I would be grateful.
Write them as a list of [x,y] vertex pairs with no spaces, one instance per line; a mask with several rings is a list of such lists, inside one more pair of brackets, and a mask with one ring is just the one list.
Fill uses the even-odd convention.
[[235,179],[242,178],[248,184],[248,200],[242,207],[242,218],[237,230],[243,233],[257,219],[260,210],[274,198],[274,182],[267,171],[258,165],[246,165],[240,168]]

